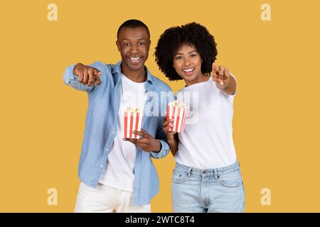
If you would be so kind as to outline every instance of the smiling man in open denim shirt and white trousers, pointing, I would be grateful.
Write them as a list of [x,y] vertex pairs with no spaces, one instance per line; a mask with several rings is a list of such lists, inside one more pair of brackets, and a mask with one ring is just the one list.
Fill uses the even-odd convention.
[[[80,187],[75,212],[150,212],[150,200],[159,192],[159,178],[151,157],[169,153],[162,118],[170,87],[144,66],[150,34],[138,20],[119,27],[117,65],[95,62],[71,65],[63,80],[88,94],[89,106],[79,162]],[[157,98],[154,98],[156,94]],[[149,107],[149,108],[146,108]],[[144,113],[141,138],[124,138],[124,110]]]

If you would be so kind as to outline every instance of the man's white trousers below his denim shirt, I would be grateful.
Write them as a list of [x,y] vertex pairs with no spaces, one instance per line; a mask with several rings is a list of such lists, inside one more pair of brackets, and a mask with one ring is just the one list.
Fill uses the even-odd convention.
[[100,183],[93,188],[81,182],[75,213],[150,213],[150,204],[131,204],[132,194]]

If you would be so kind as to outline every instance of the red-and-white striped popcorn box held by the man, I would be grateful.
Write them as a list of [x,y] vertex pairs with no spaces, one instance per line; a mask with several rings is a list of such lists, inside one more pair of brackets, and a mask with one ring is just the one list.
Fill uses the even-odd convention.
[[139,139],[132,131],[141,131],[143,113],[139,108],[127,108],[124,111],[124,138]]

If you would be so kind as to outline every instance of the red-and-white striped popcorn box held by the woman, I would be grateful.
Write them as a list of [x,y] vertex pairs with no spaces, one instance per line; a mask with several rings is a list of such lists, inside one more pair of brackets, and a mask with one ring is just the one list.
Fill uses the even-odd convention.
[[174,119],[172,122],[172,127],[169,128],[169,131],[176,133],[182,133],[186,123],[186,116],[188,114],[188,108],[186,104],[181,101],[171,101],[168,104],[166,110],[166,120]]

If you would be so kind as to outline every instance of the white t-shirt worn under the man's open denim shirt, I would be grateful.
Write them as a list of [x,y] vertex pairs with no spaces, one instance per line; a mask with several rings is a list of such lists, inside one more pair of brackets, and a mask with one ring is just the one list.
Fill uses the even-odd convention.
[[105,171],[100,177],[100,183],[128,192],[134,188],[134,162],[137,148],[124,138],[124,110],[128,107],[144,110],[146,90],[143,83],[133,82],[121,75],[121,101],[119,106],[117,135],[107,159]]

